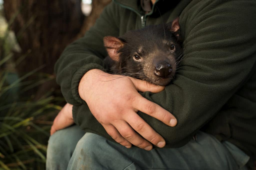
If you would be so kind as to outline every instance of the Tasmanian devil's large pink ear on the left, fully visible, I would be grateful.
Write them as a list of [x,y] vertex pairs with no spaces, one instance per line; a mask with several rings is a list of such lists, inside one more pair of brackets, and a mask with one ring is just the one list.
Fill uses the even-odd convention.
[[113,36],[105,36],[103,41],[109,57],[114,61],[119,61],[118,50],[124,46],[124,43],[119,38]]

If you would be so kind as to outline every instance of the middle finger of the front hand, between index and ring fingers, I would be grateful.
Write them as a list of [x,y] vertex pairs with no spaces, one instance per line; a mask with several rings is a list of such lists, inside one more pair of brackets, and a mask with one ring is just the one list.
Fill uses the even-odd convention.
[[147,139],[159,148],[165,146],[164,138],[155,132],[138,114],[130,114],[125,117],[127,123],[138,132],[143,138]]

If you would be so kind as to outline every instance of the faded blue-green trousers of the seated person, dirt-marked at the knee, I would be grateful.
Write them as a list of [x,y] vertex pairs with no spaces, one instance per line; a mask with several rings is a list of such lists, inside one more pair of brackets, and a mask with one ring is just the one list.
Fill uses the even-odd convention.
[[47,170],[55,169],[247,169],[244,152],[230,142],[219,142],[204,132],[180,148],[146,151],[125,148],[74,125],[49,139]]

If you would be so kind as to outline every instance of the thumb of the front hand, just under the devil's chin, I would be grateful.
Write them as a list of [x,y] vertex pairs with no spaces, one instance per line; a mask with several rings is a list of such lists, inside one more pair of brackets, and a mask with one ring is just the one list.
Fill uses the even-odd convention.
[[131,77],[131,80],[136,88],[137,91],[145,92],[151,91],[152,93],[158,93],[163,91],[165,86],[158,86],[155,84],[151,84],[145,80],[139,80]]

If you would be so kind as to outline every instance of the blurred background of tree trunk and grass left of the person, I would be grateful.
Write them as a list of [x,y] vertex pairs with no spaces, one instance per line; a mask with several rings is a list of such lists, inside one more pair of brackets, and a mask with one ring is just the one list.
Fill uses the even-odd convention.
[[54,64],[111,0],[0,0],[0,170],[45,169],[65,104]]

